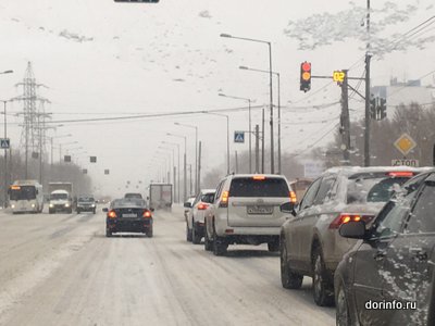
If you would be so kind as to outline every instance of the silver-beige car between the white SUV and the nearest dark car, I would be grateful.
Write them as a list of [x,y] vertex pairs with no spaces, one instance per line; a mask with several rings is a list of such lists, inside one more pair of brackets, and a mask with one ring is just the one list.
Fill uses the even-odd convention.
[[356,240],[338,227],[350,221],[366,224],[381,211],[395,187],[422,170],[410,167],[335,167],[307,190],[281,228],[281,279],[297,289],[304,275],[313,278],[314,301],[334,303],[334,272]]

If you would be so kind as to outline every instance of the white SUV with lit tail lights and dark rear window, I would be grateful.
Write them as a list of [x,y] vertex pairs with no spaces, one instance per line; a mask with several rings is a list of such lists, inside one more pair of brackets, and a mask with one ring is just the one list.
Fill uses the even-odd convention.
[[296,202],[296,195],[283,175],[226,176],[206,214],[204,249],[222,255],[228,244],[268,243],[278,251],[286,215],[279,206],[286,202]]

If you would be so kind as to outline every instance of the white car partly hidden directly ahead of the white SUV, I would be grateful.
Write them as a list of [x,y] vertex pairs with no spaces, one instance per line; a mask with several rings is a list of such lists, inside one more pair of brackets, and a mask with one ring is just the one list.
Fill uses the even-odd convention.
[[210,208],[210,203],[213,202],[215,191],[215,189],[202,189],[192,202],[191,210],[188,212],[186,218],[187,240],[195,244],[199,244],[204,236],[204,213]]

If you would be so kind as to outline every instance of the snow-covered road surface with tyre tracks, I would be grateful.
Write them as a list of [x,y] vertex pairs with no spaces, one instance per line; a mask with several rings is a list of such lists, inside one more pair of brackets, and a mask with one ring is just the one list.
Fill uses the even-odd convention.
[[214,256],[185,241],[183,211],[154,238],[104,237],[103,213],[0,214],[0,325],[334,325],[311,279],[284,290],[266,246]]

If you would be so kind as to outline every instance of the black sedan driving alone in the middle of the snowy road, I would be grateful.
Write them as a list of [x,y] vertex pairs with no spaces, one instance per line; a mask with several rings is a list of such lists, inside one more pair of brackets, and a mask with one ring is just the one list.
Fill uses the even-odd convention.
[[112,201],[107,213],[105,236],[115,233],[141,233],[152,237],[152,209],[147,208],[145,200],[123,198]]

